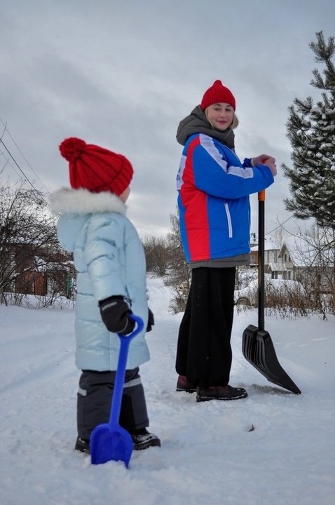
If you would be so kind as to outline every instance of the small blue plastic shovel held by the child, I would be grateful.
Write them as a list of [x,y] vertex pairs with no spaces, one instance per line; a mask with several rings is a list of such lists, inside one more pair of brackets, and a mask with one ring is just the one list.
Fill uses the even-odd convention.
[[118,368],[114,384],[113,400],[109,423],[99,424],[90,435],[90,457],[92,464],[102,464],[109,461],[123,461],[128,468],[132,455],[132,437],[118,421],[120,419],[123,384],[125,382],[125,368],[128,358],[130,341],[143,329],[143,321],[139,316],[131,314],[130,317],[137,323],[137,328],[130,335],[120,335],[120,353],[118,355]]

